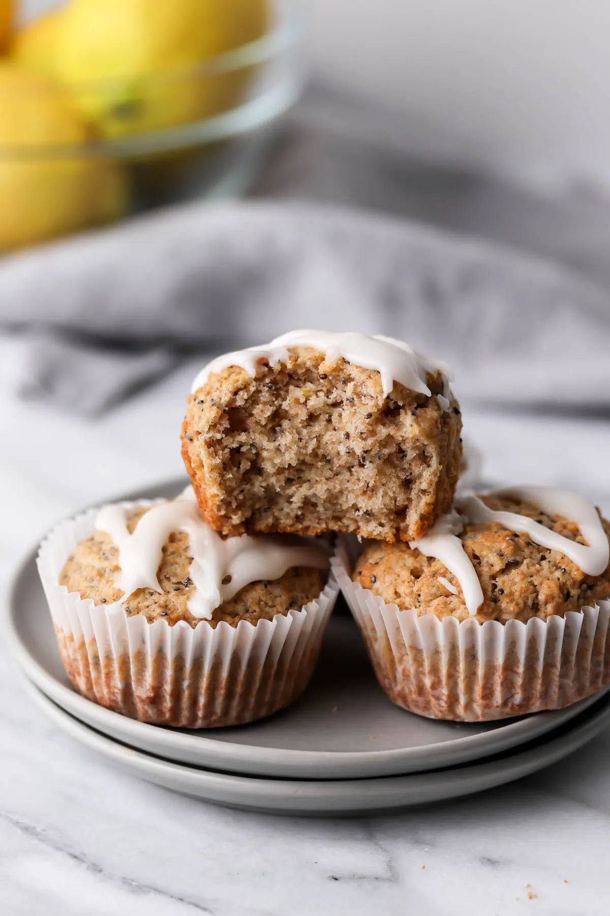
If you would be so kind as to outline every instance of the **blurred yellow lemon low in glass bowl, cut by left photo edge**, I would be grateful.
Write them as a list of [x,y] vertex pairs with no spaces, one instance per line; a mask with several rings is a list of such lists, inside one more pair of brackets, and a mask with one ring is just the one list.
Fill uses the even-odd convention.
[[0,64],[0,250],[32,245],[123,212],[123,171],[78,148],[87,128],[52,83]]

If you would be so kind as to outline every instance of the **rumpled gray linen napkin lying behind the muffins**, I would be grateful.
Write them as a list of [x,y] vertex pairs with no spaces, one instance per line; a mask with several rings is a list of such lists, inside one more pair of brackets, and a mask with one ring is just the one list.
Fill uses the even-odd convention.
[[187,354],[294,327],[402,337],[455,367],[462,398],[610,410],[604,292],[416,224],[190,204],[0,266],[0,377],[83,413]]

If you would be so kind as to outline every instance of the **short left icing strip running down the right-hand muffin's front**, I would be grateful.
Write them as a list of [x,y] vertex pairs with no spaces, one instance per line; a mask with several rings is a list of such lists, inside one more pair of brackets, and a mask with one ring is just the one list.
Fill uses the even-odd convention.
[[457,537],[464,528],[464,519],[457,512],[437,518],[429,533],[420,540],[410,540],[409,547],[426,557],[435,557],[447,567],[460,583],[469,614],[483,604],[483,589],[476,570],[468,559],[462,541]]

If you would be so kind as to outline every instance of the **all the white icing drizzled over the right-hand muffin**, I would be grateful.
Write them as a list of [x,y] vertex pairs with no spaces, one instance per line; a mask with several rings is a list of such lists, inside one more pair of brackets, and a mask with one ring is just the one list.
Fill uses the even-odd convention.
[[[549,486],[506,487],[493,490],[489,495],[506,496],[527,502],[549,515],[567,518],[578,526],[587,544],[579,544],[564,538],[533,518],[516,512],[494,511],[474,493],[458,498],[458,512],[438,518],[424,538],[410,541],[409,546],[421,551],[426,557],[435,557],[454,573],[460,583],[469,614],[475,615],[482,605],[483,591],[475,567],[468,559],[462,541],[457,537],[466,524],[498,522],[511,531],[527,534],[540,547],[562,553],[587,575],[601,575],[605,572],[610,559],[610,545],[595,507],[583,496]],[[451,584],[441,577],[439,580],[446,587]],[[450,591],[453,591],[453,587]]]

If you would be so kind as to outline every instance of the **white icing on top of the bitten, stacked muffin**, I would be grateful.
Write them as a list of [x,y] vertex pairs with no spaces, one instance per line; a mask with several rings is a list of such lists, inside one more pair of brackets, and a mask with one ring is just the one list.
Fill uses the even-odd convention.
[[271,344],[218,356],[199,372],[193,382],[192,391],[197,391],[211,373],[220,372],[230,365],[240,365],[249,375],[255,376],[256,366],[260,360],[266,360],[270,365],[285,363],[288,359],[288,349],[293,346],[312,347],[324,353],[326,362],[330,365],[342,357],[365,369],[375,369],[381,376],[384,397],[390,394],[395,381],[411,388],[412,391],[430,396],[430,388],[426,385],[426,373],[441,372],[444,378],[444,392],[437,396],[438,402],[444,410],[449,407],[449,382],[453,380],[453,373],[448,365],[434,360],[431,356],[418,353],[409,344],[392,337],[368,337],[366,334],[353,331],[291,331],[276,337]]

